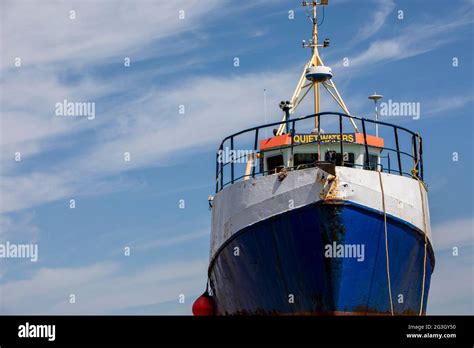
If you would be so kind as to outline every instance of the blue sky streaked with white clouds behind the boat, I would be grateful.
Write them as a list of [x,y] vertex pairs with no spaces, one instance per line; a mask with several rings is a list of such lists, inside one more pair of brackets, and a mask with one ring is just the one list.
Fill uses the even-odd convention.
[[[419,120],[383,120],[424,137],[432,314],[473,313],[472,12],[334,0],[320,28],[352,114],[371,117],[374,91],[421,104]],[[280,120],[310,53],[300,1],[2,1],[0,23],[0,241],[39,246],[38,262],[0,260],[0,313],[189,314],[206,282],[215,150],[264,123],[264,89],[267,121]],[[94,102],[95,119],[55,116],[64,99]]]

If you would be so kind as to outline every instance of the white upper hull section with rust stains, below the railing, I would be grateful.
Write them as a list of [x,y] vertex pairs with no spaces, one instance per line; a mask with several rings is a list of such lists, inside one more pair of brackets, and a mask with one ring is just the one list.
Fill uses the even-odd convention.
[[379,175],[386,213],[414,225],[431,239],[427,192],[417,180],[349,167],[336,167],[334,178],[315,167],[290,171],[282,181],[276,174],[263,176],[218,192],[212,209],[211,259],[244,227],[319,201],[350,201],[383,213]]

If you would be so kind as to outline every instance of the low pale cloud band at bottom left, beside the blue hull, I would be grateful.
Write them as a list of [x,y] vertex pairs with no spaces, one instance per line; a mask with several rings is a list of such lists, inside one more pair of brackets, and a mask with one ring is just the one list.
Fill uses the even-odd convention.
[[[132,256],[130,256],[132,257]],[[205,287],[207,259],[152,264],[120,271],[119,263],[102,262],[78,268],[42,268],[30,279],[1,284],[3,314],[107,314],[129,307],[178,302],[190,313],[193,295]],[[69,303],[74,294],[76,303]],[[41,301],[38,301],[41,298]]]

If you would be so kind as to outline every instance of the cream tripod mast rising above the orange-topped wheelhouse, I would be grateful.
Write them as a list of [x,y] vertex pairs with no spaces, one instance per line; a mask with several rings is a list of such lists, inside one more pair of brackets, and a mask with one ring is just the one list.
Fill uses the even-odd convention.
[[[323,44],[318,43],[317,7],[326,6],[326,5],[328,5],[328,0],[320,0],[319,3],[314,0],[302,2],[303,7],[307,7],[307,6],[312,7],[312,16],[310,17],[310,20],[313,26],[311,40],[309,43],[306,43],[306,41],[303,40],[303,43],[302,43],[303,48],[311,47],[312,54],[311,54],[310,60],[304,66],[303,72],[300,76],[298,84],[296,85],[296,88],[293,92],[291,100],[288,103],[286,103],[286,105],[290,105],[290,110],[289,110],[289,114],[288,112],[286,112],[285,115],[283,116],[283,121],[288,121],[288,115],[291,115],[292,113],[295,112],[297,107],[301,104],[301,102],[303,101],[303,99],[306,97],[306,95],[311,89],[313,90],[314,113],[319,113],[320,105],[321,105],[320,85],[322,85],[324,89],[328,92],[328,94],[336,101],[336,103],[339,105],[342,111],[350,115],[349,109],[344,103],[344,100],[339,94],[339,91],[337,90],[337,87],[332,79],[332,73],[331,73],[330,68],[329,68],[330,77],[325,80],[321,80],[321,81],[310,80],[308,78],[308,70],[310,68],[325,67],[323,60],[321,59],[321,56],[319,55],[318,48],[329,47],[330,42],[329,42],[329,39],[325,39]],[[349,120],[351,121],[352,126],[354,127],[355,131],[359,133],[359,129],[357,128],[357,125],[355,124],[354,120],[352,118],[349,118]],[[284,129],[285,129],[285,124],[281,124],[278,128],[276,135],[283,134]],[[319,129],[317,117],[315,118],[315,129]]]

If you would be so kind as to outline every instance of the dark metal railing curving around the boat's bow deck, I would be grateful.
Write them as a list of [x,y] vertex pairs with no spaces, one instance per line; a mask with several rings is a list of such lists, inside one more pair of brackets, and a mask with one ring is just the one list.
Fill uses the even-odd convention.
[[[382,171],[382,172],[388,172],[388,173],[397,173],[399,175],[402,175],[402,176],[409,176],[409,177],[412,177],[412,178],[417,178],[417,179],[420,179],[420,180],[423,180],[423,142],[422,142],[422,138],[419,134],[415,133],[415,132],[412,132],[410,131],[409,129],[407,128],[404,128],[404,127],[401,127],[401,126],[396,126],[396,125],[393,125],[393,124],[390,124],[390,123],[386,123],[386,122],[382,122],[382,121],[375,121],[375,120],[370,120],[370,119],[366,119],[366,118],[361,118],[361,117],[355,117],[355,116],[349,116],[347,114],[343,114],[343,113],[337,113],[337,112],[321,112],[321,113],[318,113],[318,114],[312,114],[312,115],[308,115],[308,116],[303,116],[303,117],[298,117],[298,118],[294,118],[294,119],[291,119],[291,120],[288,120],[288,121],[281,121],[281,122],[275,122],[275,123],[269,123],[269,124],[265,124],[265,125],[261,125],[261,126],[257,126],[257,127],[252,127],[252,128],[248,128],[248,129],[245,129],[245,130],[242,130],[240,132],[237,132],[237,133],[234,133],[232,135],[229,135],[228,137],[224,138],[224,140],[222,140],[220,146],[219,146],[219,149],[218,149],[218,152],[216,153],[216,192],[219,192],[220,190],[222,190],[225,186],[227,185],[230,185],[230,184],[233,184],[237,181],[240,181],[240,180],[243,180],[245,178],[248,178],[248,177],[256,177],[256,176],[259,176],[259,175],[265,175],[265,174],[269,174],[270,172],[269,171],[264,171],[264,170],[261,170],[259,168],[259,170],[257,171],[257,165],[256,165],[256,162],[257,161],[262,161],[263,160],[263,153],[265,151],[274,151],[275,149],[270,149],[270,150],[264,150],[264,151],[259,151],[258,149],[258,144],[259,144],[259,140],[263,140],[265,138],[262,138],[260,139],[259,138],[259,135],[262,134],[261,130],[264,129],[264,128],[268,128],[268,127],[274,127],[274,126],[279,126],[281,124],[285,124],[289,127],[290,129],[290,135],[291,135],[291,144],[289,145],[285,145],[285,146],[280,146],[278,147],[278,149],[287,149],[287,148],[290,148],[290,153],[291,153],[291,158],[293,159],[293,154],[294,154],[294,148],[298,147],[298,146],[302,146],[302,145],[308,145],[308,144],[312,144],[312,143],[315,143],[315,144],[318,144],[318,149],[320,148],[321,144],[325,144],[324,141],[321,141],[321,137],[318,136],[317,137],[317,141],[311,141],[311,142],[304,142],[304,143],[299,143],[299,144],[295,144],[294,143],[294,137],[293,135],[296,134],[296,126],[298,125],[298,123],[300,122],[303,122],[305,120],[309,120],[309,119],[317,119],[317,124],[318,124],[318,129],[317,129],[317,133],[316,134],[324,134],[324,133],[321,133],[321,121],[324,117],[337,117],[338,118],[338,132],[334,132],[334,133],[331,133],[331,134],[339,134],[339,141],[332,141],[331,144],[335,144],[335,143],[339,143],[340,144],[340,153],[341,153],[341,157],[342,157],[342,160],[340,161],[341,163],[339,163],[338,165],[346,165],[346,166],[352,166],[352,167],[359,167],[361,169],[366,169],[366,170],[379,170],[379,171]],[[362,133],[359,132],[359,134],[362,134],[363,136],[363,141],[364,143],[361,144],[364,146],[365,148],[365,156],[364,156],[364,164],[363,165],[359,165],[359,164],[355,164],[355,163],[345,163],[343,158],[343,154],[344,154],[344,144],[353,144],[352,142],[347,142],[347,141],[343,141],[343,120],[345,119],[349,119],[349,118],[352,118],[352,120],[354,120],[356,123],[360,123],[362,127],[360,127],[359,129],[362,129]],[[381,152],[382,151],[387,151],[387,155],[386,156],[380,156],[381,159],[387,159],[387,166],[384,166],[383,164],[381,163],[377,163],[375,165],[375,168],[374,166],[370,163],[370,157],[369,157],[369,147],[371,145],[368,144],[367,142],[367,125],[368,124],[378,124],[379,125],[379,130],[381,133],[384,132],[384,130],[386,131],[387,129],[390,130],[389,133],[386,133],[384,135],[384,147],[379,147],[379,149],[381,149]],[[314,131],[316,131],[316,129],[314,129]],[[253,163],[253,167],[252,167],[252,170],[249,174],[244,174],[244,175],[240,175],[240,176],[237,176],[236,175],[236,163],[241,160],[242,158],[241,157],[233,157],[230,161],[227,161],[225,162],[224,160],[222,160],[222,158],[219,160],[219,154],[221,154],[221,157],[222,157],[222,153],[223,153],[223,150],[224,150],[224,145],[226,143],[229,143],[230,144],[230,151],[234,151],[235,150],[235,143],[236,143],[236,140],[238,139],[238,137],[242,137],[242,136],[247,136],[249,134],[251,134],[253,132],[253,149],[251,150],[253,153],[255,154],[259,154],[259,156],[255,156],[255,163]],[[357,132],[355,132],[357,133]],[[314,134],[314,133],[313,133]],[[386,146],[387,143],[390,143],[389,141],[387,141],[387,136],[389,134],[392,134],[393,136],[393,146],[394,147],[389,147],[389,146]],[[409,146],[410,148],[410,152],[407,152],[407,150],[402,150],[401,149],[401,141],[400,141],[400,137],[401,135],[408,135],[408,137],[411,139],[411,144]],[[268,138],[268,137],[266,137]],[[406,142],[406,141],[405,141]],[[391,163],[390,163],[390,152],[393,152],[396,154],[396,164],[397,164],[397,167],[396,169],[393,169],[391,168]],[[319,151],[318,151],[318,155],[320,155]],[[258,158],[257,158],[258,157]],[[318,157],[318,161],[320,160],[320,157]],[[405,163],[404,163],[405,162]],[[293,163],[293,162],[292,162]],[[313,164],[314,166],[317,165],[317,162],[315,162]],[[311,166],[311,165],[307,165],[306,167],[308,166]],[[228,169],[230,167],[230,173],[228,172]],[[261,166],[258,166],[258,167],[261,167]],[[407,167],[410,168],[410,171],[404,171],[404,168],[406,169]],[[285,167],[287,170],[297,170],[297,169],[301,169],[301,165],[299,166],[286,166]],[[272,171],[274,173],[274,171]],[[228,175],[226,175],[228,174]],[[229,178],[225,179],[226,176],[229,176]]]

